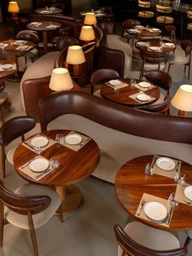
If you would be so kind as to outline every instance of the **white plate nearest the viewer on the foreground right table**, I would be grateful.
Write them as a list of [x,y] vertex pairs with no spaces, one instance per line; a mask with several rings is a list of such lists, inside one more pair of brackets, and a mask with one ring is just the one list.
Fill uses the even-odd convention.
[[165,206],[155,201],[147,203],[144,211],[147,217],[154,220],[163,220],[168,214]]

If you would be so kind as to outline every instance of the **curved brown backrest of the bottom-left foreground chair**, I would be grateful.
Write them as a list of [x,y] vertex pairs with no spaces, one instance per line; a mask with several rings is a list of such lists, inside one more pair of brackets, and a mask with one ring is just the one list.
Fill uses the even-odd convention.
[[[14,192],[7,190],[0,180],[0,201],[3,205],[18,214],[28,215],[28,211],[31,214],[38,214],[42,210],[45,210],[50,205],[49,196],[26,196],[18,195]],[[1,204],[1,208],[3,205]],[[2,213],[2,210],[1,210]],[[3,218],[3,216],[2,216]]]

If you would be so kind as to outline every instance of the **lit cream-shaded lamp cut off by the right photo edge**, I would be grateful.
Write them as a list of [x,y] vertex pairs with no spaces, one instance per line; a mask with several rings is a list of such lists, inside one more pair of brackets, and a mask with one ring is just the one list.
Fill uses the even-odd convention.
[[172,99],[172,106],[179,109],[179,116],[185,116],[187,112],[192,111],[192,86],[180,86]]

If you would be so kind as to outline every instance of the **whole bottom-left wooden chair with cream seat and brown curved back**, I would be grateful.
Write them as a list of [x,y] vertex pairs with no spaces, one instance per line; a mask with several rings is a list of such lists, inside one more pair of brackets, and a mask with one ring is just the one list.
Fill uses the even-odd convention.
[[[28,229],[33,243],[33,254],[38,255],[35,229],[46,224],[60,209],[61,197],[45,186],[25,183],[11,192],[0,181],[0,246],[3,246],[3,227],[11,223]],[[60,219],[62,222],[62,219]]]

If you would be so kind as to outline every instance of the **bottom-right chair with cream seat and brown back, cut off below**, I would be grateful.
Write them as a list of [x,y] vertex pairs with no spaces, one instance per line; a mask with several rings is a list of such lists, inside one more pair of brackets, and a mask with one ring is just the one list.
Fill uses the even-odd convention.
[[124,230],[120,225],[114,227],[119,244],[118,256],[184,256],[187,249],[181,248],[172,233],[132,222]]

